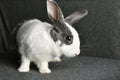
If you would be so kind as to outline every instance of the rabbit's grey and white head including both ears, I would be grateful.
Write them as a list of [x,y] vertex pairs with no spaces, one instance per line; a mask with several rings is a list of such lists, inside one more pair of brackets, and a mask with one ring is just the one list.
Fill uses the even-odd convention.
[[53,22],[50,34],[60,51],[66,57],[74,57],[80,54],[80,39],[72,24],[88,14],[87,10],[79,10],[64,18],[63,13],[54,0],[47,0],[47,12]]

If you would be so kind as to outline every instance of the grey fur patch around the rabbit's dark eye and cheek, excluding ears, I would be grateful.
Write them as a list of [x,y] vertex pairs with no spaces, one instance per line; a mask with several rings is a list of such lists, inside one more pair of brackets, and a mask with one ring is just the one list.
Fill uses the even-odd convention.
[[[50,32],[50,35],[55,42],[60,40],[61,45],[71,45],[73,42],[73,35],[65,24],[55,24],[54,28]],[[71,38],[71,40],[68,39],[68,37]]]

